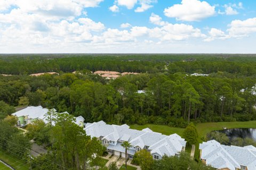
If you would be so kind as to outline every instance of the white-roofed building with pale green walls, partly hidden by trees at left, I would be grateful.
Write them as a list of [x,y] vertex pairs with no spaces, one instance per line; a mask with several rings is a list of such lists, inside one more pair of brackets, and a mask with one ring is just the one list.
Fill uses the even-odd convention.
[[[18,126],[20,126],[21,124],[27,125],[33,122],[34,120],[38,120],[38,119],[44,121],[44,123],[46,124],[52,122],[52,125],[55,125],[55,122],[51,121],[54,119],[54,115],[53,117],[51,117],[47,115],[47,112],[49,112],[49,109],[43,108],[42,106],[29,106],[25,109],[22,109],[18,112],[13,113],[12,115],[18,117],[18,122],[17,122]],[[53,112],[56,112],[56,110],[53,109]],[[69,114],[69,113],[63,112],[60,114]],[[78,116],[74,118],[75,118],[74,123],[84,128],[84,118],[82,116]]]

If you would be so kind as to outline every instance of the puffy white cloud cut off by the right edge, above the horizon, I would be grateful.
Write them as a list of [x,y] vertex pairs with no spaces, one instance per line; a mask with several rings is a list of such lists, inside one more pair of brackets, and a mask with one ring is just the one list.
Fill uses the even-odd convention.
[[249,36],[250,33],[256,32],[256,18],[249,18],[247,20],[234,20],[229,24],[230,37],[241,38]]

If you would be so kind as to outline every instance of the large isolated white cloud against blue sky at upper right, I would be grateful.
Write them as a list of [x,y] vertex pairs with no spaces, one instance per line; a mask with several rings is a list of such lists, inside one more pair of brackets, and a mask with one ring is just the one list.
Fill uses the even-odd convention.
[[175,4],[165,8],[164,14],[180,21],[200,21],[215,14],[215,6],[198,0],[182,0],[181,4]]

